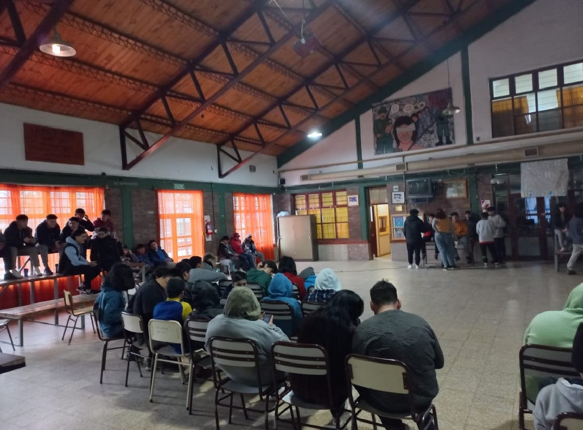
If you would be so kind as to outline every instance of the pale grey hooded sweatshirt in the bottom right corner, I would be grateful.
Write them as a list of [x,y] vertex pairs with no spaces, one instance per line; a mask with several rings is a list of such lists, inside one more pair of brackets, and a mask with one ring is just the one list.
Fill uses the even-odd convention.
[[536,397],[533,411],[536,430],[551,430],[554,418],[561,412],[583,412],[583,380],[559,378],[547,385]]

